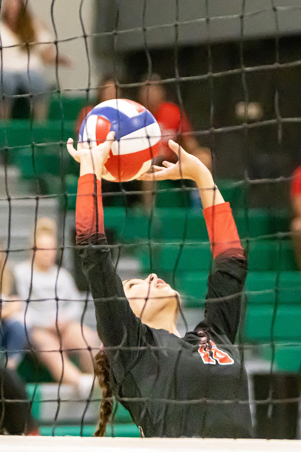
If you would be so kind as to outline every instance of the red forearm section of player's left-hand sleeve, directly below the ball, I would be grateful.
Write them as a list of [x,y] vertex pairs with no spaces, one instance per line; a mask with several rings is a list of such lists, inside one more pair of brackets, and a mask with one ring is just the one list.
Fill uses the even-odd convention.
[[75,224],[78,243],[104,234],[102,184],[95,174],[85,174],[79,178]]

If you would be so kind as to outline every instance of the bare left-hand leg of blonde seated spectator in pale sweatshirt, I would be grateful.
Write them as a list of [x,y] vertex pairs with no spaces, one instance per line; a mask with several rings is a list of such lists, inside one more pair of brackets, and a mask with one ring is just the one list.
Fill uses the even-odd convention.
[[60,352],[60,341],[56,334],[44,328],[33,328],[31,340],[39,359],[48,367],[56,381],[60,381],[63,376],[62,383],[79,385],[82,374],[71,363],[65,351]]

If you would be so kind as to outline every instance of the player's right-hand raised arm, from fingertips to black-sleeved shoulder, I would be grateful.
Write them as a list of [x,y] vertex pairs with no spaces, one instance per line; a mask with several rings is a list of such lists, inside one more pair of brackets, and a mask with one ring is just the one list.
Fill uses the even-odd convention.
[[214,271],[208,278],[205,320],[215,330],[227,334],[234,342],[240,312],[241,293],[246,277],[246,259],[239,240],[232,211],[214,184],[208,168],[194,155],[185,152],[174,141],[170,148],[176,152],[176,164],[163,162],[166,167],[154,166],[154,172],[144,174],[144,180],[192,179],[199,188],[204,207],[208,235],[214,258]]

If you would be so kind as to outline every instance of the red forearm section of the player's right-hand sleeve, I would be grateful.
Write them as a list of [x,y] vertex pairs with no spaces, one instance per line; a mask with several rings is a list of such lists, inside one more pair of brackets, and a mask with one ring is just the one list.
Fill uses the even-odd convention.
[[218,254],[231,250],[237,257],[244,255],[229,202],[216,204],[203,210],[211,251],[215,259]]

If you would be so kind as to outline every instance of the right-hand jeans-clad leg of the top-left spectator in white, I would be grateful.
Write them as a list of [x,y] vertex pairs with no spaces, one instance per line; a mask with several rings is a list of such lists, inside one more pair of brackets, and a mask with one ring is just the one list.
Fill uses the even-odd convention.
[[45,76],[35,70],[29,70],[22,74],[22,86],[24,90],[33,95],[33,116],[37,121],[45,121],[48,113],[47,93],[49,84]]

